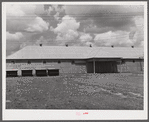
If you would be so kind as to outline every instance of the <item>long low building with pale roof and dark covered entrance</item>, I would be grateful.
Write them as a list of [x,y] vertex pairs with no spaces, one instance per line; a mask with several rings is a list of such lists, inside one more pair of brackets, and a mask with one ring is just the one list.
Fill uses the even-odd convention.
[[142,72],[141,57],[137,47],[27,46],[7,57],[6,69],[18,76]]

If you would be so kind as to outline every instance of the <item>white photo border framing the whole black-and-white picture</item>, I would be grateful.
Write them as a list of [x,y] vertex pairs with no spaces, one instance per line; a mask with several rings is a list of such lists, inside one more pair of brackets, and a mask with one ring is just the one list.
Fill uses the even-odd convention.
[[[6,105],[6,5],[144,5],[144,110],[8,110]],[[146,120],[148,119],[147,2],[2,2],[2,120]],[[81,113],[80,116],[76,112]],[[88,112],[87,115],[83,115]]]

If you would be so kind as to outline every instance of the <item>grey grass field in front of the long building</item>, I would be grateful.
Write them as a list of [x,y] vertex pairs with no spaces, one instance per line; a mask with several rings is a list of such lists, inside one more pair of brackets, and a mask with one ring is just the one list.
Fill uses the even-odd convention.
[[69,74],[6,79],[7,109],[142,110],[143,76]]

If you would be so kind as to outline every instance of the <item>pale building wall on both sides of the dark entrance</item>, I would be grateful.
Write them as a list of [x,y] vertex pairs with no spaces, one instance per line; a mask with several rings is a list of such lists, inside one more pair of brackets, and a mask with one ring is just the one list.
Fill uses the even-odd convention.
[[[142,67],[141,67],[142,66]],[[140,73],[143,72],[142,70],[144,69],[144,63],[143,61],[135,61],[133,62],[132,60],[125,61],[123,64],[118,64],[118,72],[128,72],[128,73]],[[84,61],[82,62],[75,62],[72,64],[72,62],[63,62],[61,63],[58,62],[46,62],[45,64],[41,61],[31,61],[31,64],[28,64],[27,61],[15,61],[15,63],[7,62],[6,63],[6,69],[18,69],[18,75],[21,76],[21,70],[23,69],[31,69],[33,70],[33,75],[35,75],[35,69],[59,69],[59,73],[87,73],[86,69],[86,63]]]

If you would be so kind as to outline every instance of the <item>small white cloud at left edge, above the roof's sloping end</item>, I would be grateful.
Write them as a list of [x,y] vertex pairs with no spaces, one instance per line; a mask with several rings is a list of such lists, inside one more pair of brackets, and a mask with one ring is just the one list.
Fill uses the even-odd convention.
[[16,32],[15,34],[11,34],[9,32],[6,32],[6,40],[20,40],[23,38],[23,34],[21,32]]

